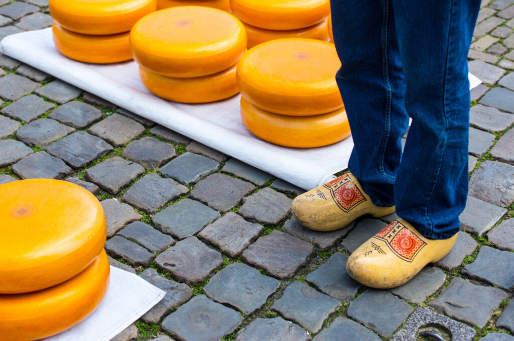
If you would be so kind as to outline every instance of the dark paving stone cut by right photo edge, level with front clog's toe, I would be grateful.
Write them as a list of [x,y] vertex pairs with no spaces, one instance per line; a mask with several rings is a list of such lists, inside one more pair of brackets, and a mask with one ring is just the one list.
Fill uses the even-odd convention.
[[482,246],[474,262],[464,266],[462,274],[502,289],[514,290],[514,253]]

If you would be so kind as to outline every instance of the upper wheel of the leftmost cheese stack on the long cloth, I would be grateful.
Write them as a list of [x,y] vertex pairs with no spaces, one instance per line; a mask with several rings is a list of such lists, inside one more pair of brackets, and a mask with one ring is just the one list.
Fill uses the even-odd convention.
[[130,31],[157,0],[50,0],[50,14],[64,28],[82,34],[115,34]]

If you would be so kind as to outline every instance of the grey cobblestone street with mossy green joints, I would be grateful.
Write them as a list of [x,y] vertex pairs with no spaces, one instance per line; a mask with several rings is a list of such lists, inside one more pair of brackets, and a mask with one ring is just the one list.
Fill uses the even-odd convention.
[[[0,6],[0,38],[52,23],[48,0]],[[483,1],[462,231],[396,289],[345,270],[395,214],[309,230],[290,212],[304,190],[3,55],[0,184],[44,177],[91,191],[111,264],[167,292],[113,341],[413,341],[419,328],[514,341],[513,32],[514,0]]]

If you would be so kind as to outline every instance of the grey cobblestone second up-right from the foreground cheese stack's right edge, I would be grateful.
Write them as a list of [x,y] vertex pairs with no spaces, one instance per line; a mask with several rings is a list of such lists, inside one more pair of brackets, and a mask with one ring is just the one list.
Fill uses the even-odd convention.
[[189,189],[171,179],[160,177],[158,174],[147,174],[140,178],[125,194],[123,201],[136,206],[147,213],[155,211],[180,195],[186,194]]

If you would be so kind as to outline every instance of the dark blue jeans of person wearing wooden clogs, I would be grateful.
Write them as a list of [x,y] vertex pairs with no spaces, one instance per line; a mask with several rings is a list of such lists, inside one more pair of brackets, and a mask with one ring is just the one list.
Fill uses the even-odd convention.
[[453,236],[468,191],[467,54],[480,0],[331,6],[355,142],[348,168],[376,206],[396,205],[427,238]]

